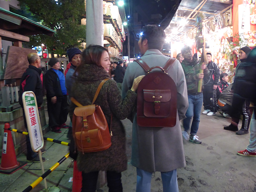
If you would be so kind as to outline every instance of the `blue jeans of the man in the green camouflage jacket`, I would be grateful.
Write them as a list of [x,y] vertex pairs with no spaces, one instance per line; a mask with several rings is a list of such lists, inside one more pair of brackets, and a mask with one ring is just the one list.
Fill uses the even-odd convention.
[[193,117],[190,134],[196,135],[200,122],[201,108],[203,105],[203,93],[200,93],[198,95],[188,95],[188,103],[189,106],[186,112],[187,118],[183,120],[183,126],[184,130],[188,132],[190,120]]

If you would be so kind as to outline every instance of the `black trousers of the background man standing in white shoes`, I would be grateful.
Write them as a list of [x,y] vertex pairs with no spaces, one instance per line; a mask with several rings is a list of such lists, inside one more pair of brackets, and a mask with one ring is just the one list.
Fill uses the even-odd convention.
[[204,86],[203,89],[204,96],[204,110],[210,109],[212,112],[217,112],[217,97],[216,97],[216,89],[213,89],[212,86]]

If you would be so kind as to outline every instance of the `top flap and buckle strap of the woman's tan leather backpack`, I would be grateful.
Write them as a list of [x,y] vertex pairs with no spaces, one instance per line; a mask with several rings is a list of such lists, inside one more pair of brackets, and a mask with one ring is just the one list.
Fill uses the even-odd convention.
[[88,128],[87,116],[92,115],[95,112],[95,105],[86,105],[83,107],[76,107],[74,114],[77,117],[83,117],[84,128]]

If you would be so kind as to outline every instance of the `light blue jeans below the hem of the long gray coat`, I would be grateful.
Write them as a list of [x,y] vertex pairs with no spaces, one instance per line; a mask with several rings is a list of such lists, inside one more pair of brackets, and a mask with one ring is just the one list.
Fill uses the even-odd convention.
[[[179,192],[177,170],[161,172],[163,192]],[[150,192],[152,173],[137,168],[136,192]]]

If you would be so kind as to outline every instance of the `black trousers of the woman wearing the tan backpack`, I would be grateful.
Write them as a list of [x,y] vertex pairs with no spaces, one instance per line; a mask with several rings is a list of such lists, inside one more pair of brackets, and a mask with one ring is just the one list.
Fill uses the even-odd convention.
[[[82,172],[82,192],[95,192],[99,172]],[[107,171],[108,192],[123,192],[121,173]]]

